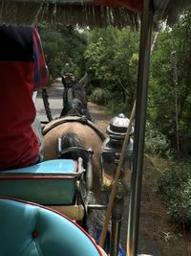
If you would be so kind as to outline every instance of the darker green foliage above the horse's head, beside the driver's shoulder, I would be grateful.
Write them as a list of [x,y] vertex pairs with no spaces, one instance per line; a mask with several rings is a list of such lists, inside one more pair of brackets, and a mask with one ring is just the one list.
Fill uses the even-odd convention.
[[50,71],[50,83],[66,72],[74,73],[75,77],[83,75],[86,36],[73,26],[47,24],[39,27],[46,60]]

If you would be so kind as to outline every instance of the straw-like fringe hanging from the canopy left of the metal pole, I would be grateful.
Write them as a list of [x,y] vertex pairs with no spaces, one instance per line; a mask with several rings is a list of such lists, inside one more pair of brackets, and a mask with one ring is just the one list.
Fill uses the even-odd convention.
[[[64,2],[64,3],[63,3]],[[69,1],[68,1],[69,2]],[[105,27],[115,25],[138,27],[138,13],[124,7],[106,7],[71,1],[0,1],[0,22],[7,24],[32,25],[46,21],[64,25]],[[82,2],[82,1],[80,1]]]

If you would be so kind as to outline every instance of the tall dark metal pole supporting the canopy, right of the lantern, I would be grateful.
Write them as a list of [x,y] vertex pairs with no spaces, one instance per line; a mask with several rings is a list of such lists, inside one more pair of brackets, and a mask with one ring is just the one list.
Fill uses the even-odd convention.
[[146,104],[149,81],[149,62],[153,23],[152,0],[145,0],[141,16],[138,59],[137,108],[134,135],[134,160],[130,188],[127,256],[138,254],[138,222],[142,182]]

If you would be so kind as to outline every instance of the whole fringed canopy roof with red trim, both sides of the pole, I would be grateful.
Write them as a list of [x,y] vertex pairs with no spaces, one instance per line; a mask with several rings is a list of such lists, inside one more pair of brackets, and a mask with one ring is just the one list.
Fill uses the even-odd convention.
[[[138,26],[143,0],[0,0],[0,22],[33,24],[41,21],[102,27]],[[190,0],[153,0],[156,20],[174,23]]]

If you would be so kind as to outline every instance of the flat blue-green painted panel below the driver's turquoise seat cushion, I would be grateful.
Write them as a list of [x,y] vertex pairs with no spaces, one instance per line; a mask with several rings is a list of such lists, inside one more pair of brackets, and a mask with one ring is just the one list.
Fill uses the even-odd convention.
[[73,179],[60,178],[0,179],[0,197],[69,205],[74,204],[75,183]]

